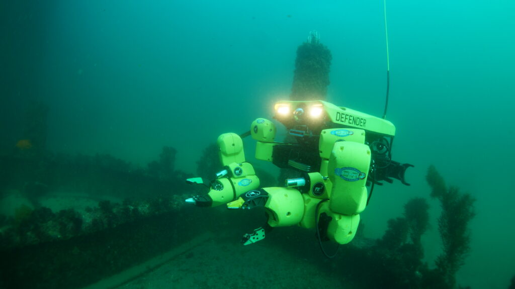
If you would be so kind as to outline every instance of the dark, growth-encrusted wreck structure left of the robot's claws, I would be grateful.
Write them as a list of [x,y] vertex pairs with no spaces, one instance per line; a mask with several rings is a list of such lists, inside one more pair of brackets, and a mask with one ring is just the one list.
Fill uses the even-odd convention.
[[0,214],[0,288],[82,287],[187,241],[179,215],[191,188],[170,166],[173,151],[147,168],[98,154],[0,156],[10,208]]

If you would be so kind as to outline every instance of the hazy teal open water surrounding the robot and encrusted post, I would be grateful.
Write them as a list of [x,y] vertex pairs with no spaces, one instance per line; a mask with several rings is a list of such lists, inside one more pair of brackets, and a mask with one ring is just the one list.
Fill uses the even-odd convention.
[[[382,236],[407,200],[429,198],[433,164],[477,199],[458,284],[507,288],[515,274],[515,2],[386,5],[393,158],[415,168],[409,187],[376,187],[364,233]],[[333,56],[327,101],[381,117],[383,13],[382,1],[3,2],[0,150],[20,140],[37,100],[49,108],[48,150],[144,166],[170,146],[175,167],[195,173],[219,134],[272,119],[273,103],[289,98],[296,49],[313,30]],[[423,242],[432,264],[440,208],[430,205]]]

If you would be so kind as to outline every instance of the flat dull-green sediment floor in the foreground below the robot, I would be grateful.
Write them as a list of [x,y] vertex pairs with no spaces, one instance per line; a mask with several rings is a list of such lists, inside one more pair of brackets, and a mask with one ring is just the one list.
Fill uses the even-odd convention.
[[[228,232],[228,234],[231,234]],[[117,289],[141,288],[343,288],[338,268],[324,259],[316,246],[307,246],[316,254],[304,258],[302,251],[273,246],[263,240],[249,246],[239,244],[235,236],[212,234],[202,242],[192,243],[176,252],[170,260],[147,272],[132,276]],[[272,237],[271,237],[272,238]],[[314,244],[313,244],[314,245]],[[130,269],[127,270],[130,275]],[[124,273],[115,277],[123,277]],[[105,283],[90,288],[111,287]],[[113,284],[113,283],[112,283]],[[348,287],[349,288],[349,287]]]

